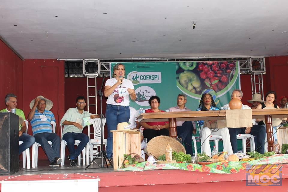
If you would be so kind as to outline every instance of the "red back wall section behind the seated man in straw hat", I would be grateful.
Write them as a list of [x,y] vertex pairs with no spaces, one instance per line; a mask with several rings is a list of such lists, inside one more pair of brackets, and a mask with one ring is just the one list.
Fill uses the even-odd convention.
[[[64,61],[26,59],[23,66],[23,98],[25,101],[23,110],[26,117],[30,112],[30,102],[38,95],[42,95],[53,102],[51,111],[55,116],[58,128],[59,120],[64,115]],[[28,134],[32,135],[30,123],[28,128]],[[59,129],[56,130],[56,133],[60,136]],[[42,148],[39,148],[38,159],[47,159]]]

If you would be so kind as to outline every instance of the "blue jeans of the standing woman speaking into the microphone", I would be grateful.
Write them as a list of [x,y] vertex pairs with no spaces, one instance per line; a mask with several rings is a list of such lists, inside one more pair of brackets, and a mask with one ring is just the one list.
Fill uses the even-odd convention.
[[113,134],[110,131],[117,130],[118,123],[128,123],[130,118],[129,106],[107,104],[105,116],[108,130],[106,153],[107,157],[111,159],[113,155]]

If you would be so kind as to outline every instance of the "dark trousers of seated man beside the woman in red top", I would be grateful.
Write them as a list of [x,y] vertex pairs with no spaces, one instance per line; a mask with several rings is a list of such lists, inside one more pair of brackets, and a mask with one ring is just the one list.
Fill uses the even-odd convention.
[[185,143],[186,154],[190,154],[191,156],[193,156],[193,147],[191,146],[193,130],[191,121],[185,121],[182,126],[176,127],[177,136],[182,138],[182,143]]

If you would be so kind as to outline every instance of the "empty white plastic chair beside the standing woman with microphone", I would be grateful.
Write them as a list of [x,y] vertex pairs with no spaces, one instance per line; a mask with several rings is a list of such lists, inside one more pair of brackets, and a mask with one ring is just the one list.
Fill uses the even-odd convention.
[[[89,142],[86,145],[86,163],[89,164],[89,156],[90,156],[90,162],[93,160],[93,148],[94,146],[101,146],[101,118],[95,118],[92,119],[93,122],[93,128],[94,133],[91,133],[94,135],[94,139],[90,139]],[[105,145],[105,148],[107,146],[107,139],[104,139],[104,126],[106,124],[106,118],[102,118],[102,138],[103,138],[103,144]],[[90,136],[90,129],[88,128],[88,136]],[[103,147],[103,146],[102,146]],[[91,163],[93,164],[93,162]]]

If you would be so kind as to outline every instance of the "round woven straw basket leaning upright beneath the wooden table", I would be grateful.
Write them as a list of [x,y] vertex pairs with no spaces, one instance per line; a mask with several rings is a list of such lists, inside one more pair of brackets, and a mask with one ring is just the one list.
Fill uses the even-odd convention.
[[181,143],[179,143],[179,141],[177,141],[172,137],[164,135],[154,137],[153,139],[151,139],[147,144],[147,152],[149,153],[149,155],[151,154],[158,159],[159,156],[165,154],[165,149],[168,143],[171,146],[173,152],[182,151],[186,154],[184,146]]

